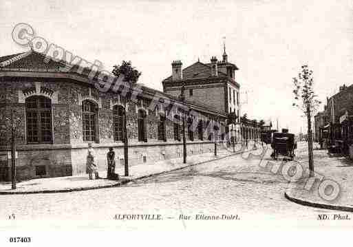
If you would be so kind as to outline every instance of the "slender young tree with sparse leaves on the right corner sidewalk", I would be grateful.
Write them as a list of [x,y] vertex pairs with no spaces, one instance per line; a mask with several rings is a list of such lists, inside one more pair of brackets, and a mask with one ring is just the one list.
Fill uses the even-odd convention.
[[301,66],[301,72],[298,77],[293,78],[293,93],[295,94],[295,103],[293,106],[298,107],[303,111],[308,120],[308,153],[309,153],[309,170],[310,177],[314,176],[314,160],[312,153],[312,129],[311,129],[311,116],[320,105],[317,95],[314,94],[314,78],[312,70],[308,65]]

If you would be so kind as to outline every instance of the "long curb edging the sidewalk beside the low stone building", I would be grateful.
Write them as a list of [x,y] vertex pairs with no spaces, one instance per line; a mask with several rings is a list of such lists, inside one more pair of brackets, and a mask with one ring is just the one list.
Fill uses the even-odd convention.
[[193,166],[196,166],[198,164],[204,164],[204,163],[212,162],[212,161],[215,161],[215,160],[222,160],[224,158],[228,158],[228,157],[231,157],[233,155],[238,155],[238,154],[246,153],[246,152],[253,151],[253,150],[254,149],[247,150],[247,151],[242,151],[242,152],[239,152],[239,153],[231,153],[230,155],[225,155],[225,156],[220,157],[220,158],[214,158],[212,160],[206,160],[206,161],[202,161],[202,162],[197,162],[195,164],[188,164],[185,167],[178,167],[178,168],[175,168],[175,169],[171,169],[169,171],[162,171],[162,172],[159,172],[159,173],[152,173],[152,174],[149,174],[149,175],[143,175],[141,177],[134,178],[134,179],[125,179],[125,180],[122,180],[120,182],[116,182],[116,184],[109,184],[109,185],[102,185],[102,186],[81,187],[81,188],[79,187],[79,188],[72,188],[72,189],[52,189],[52,190],[48,189],[48,190],[43,190],[43,191],[0,191],[0,195],[27,195],[27,194],[69,193],[69,192],[75,192],[75,191],[89,191],[89,190],[94,190],[94,189],[107,189],[107,188],[112,188],[112,187],[119,187],[120,185],[127,184],[128,182],[133,182],[133,181],[141,180],[141,179],[144,179],[144,178],[150,178],[150,177],[153,177],[155,175],[162,175],[164,173],[170,173],[171,171],[178,171],[178,170],[181,170],[181,169],[185,169],[187,167],[193,167]]

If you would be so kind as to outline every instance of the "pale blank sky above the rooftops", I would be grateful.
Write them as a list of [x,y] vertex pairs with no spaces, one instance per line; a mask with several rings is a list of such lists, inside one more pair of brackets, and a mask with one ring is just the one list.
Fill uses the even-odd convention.
[[[1,0],[0,56],[28,50],[12,41],[17,23],[37,36],[111,71],[123,60],[142,72],[139,83],[162,91],[171,62],[222,57],[239,70],[242,114],[305,131],[294,107],[292,78],[308,64],[325,103],[353,83],[353,1],[72,1]],[[323,109],[323,104],[320,109]]]

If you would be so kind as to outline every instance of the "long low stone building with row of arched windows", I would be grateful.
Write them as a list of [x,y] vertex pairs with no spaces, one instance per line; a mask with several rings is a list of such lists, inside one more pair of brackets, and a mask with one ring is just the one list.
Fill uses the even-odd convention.
[[[232,73],[236,69],[228,63],[225,66]],[[189,96],[180,103],[178,93],[149,87],[139,87],[134,99],[111,89],[102,92],[87,72],[78,73],[79,69],[82,68],[69,67],[33,50],[0,58],[0,181],[9,180],[11,175],[12,123],[16,126],[17,178],[23,180],[85,173],[89,143],[96,152],[99,169],[107,168],[109,147],[116,151],[117,165],[123,164],[125,114],[130,165],[153,165],[158,160],[182,157],[180,120],[184,114],[188,155],[207,153],[213,151],[215,140],[226,140],[228,113],[239,109],[237,100],[233,102],[226,96],[228,88],[229,95],[233,89],[239,91],[230,74],[228,80],[218,72],[227,89],[218,100],[224,100],[224,105],[210,107]],[[172,69],[173,77],[175,63]],[[190,93],[191,88],[186,88]],[[197,90],[195,96],[199,94]],[[232,97],[235,96],[239,98],[233,92]],[[183,107],[188,111],[182,111]],[[252,125],[246,131],[255,137],[257,129]],[[222,147],[218,144],[219,149]]]

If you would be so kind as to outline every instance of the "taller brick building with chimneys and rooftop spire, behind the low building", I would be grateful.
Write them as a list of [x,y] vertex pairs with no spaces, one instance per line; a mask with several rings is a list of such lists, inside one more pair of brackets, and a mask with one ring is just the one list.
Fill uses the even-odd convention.
[[181,61],[173,61],[171,66],[171,76],[162,81],[163,92],[178,96],[183,87],[188,100],[223,111],[228,116],[235,116],[235,121],[230,121],[227,128],[236,142],[242,141],[243,132],[259,132],[258,126],[240,121],[240,85],[235,80],[238,67],[228,62],[225,47],[222,61],[213,56],[211,63],[197,61],[183,69]]

